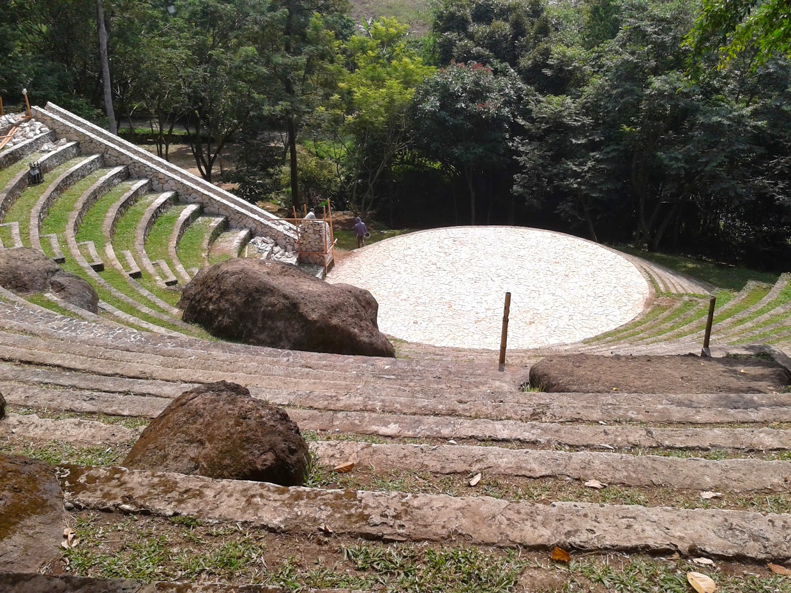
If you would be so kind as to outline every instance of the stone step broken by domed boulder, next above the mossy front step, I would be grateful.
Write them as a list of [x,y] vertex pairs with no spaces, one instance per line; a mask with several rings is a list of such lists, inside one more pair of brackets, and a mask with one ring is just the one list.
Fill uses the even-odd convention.
[[[16,395],[13,395],[16,398]],[[143,398],[142,398],[143,399]],[[11,405],[25,405],[9,401]],[[109,414],[112,411],[108,410]],[[5,431],[5,432],[2,432]],[[16,432],[11,432],[16,431]],[[140,429],[126,429],[97,421],[47,420],[36,414],[13,414],[9,427],[0,428],[8,444],[53,439],[74,446],[124,445]],[[678,458],[592,451],[547,451],[453,444],[371,444],[350,440],[309,443],[323,466],[353,462],[376,472],[416,471],[431,474],[470,474],[586,480],[609,485],[721,492],[785,493],[791,462],[760,459]]]

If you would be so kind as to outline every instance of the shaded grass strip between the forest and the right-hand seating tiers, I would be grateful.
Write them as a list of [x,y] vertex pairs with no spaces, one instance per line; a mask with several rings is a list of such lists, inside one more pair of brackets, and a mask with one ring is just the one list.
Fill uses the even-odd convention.
[[612,247],[624,253],[648,259],[650,262],[658,263],[660,266],[665,266],[682,274],[687,274],[687,276],[692,278],[736,292],[743,289],[744,285],[751,280],[774,284],[780,275],[773,272],[750,270],[749,268],[718,266],[716,263],[706,262],[702,259],[687,258],[683,257],[683,255],[642,251],[629,245],[613,245]]

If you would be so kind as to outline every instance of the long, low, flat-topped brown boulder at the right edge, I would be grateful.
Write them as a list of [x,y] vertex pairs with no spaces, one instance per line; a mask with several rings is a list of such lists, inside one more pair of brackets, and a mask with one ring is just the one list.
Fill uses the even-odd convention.
[[788,388],[782,365],[755,358],[683,356],[544,358],[530,369],[531,387],[543,391],[604,393],[772,393]]

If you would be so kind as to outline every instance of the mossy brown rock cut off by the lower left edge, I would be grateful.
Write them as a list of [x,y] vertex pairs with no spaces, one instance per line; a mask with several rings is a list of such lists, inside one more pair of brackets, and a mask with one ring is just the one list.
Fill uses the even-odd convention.
[[63,495],[54,468],[0,453],[0,567],[36,572],[59,555]]

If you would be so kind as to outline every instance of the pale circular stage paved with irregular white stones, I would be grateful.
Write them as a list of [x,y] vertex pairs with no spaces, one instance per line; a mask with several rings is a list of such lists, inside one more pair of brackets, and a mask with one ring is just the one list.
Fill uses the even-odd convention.
[[379,329],[433,346],[498,349],[511,293],[509,349],[579,342],[634,319],[649,296],[617,251],[524,227],[413,232],[353,251],[327,276],[368,289]]

